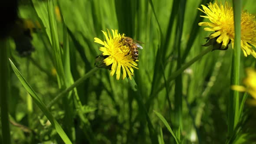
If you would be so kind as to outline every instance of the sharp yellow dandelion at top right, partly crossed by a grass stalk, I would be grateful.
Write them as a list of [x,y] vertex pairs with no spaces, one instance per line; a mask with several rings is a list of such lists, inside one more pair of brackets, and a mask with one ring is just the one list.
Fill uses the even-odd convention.
[[[226,2],[223,6],[222,3],[210,3],[208,7],[201,5],[203,10],[198,10],[205,13],[207,16],[201,16],[210,20],[210,22],[198,23],[199,26],[209,26],[204,28],[205,31],[211,31],[207,40],[212,40],[205,46],[214,45],[219,46],[217,49],[227,49],[228,44],[234,46],[235,29],[234,29],[234,14],[233,7],[229,6]],[[244,56],[252,54],[256,58],[256,52],[253,49],[256,46],[256,21],[255,16],[242,12],[241,15],[241,49]]]

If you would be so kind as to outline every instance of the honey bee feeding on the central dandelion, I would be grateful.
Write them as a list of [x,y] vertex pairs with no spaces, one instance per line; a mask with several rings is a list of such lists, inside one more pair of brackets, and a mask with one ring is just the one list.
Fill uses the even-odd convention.
[[133,61],[136,61],[138,59],[138,56],[139,56],[138,48],[143,49],[143,47],[138,44],[138,43],[141,43],[141,42],[135,41],[132,38],[127,37],[127,36],[125,37],[124,42],[125,42],[125,45],[130,48],[131,57],[132,57]]

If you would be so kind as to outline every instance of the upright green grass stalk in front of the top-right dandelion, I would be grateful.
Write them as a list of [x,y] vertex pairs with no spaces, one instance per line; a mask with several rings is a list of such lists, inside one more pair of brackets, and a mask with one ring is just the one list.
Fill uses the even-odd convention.
[[[235,22],[235,39],[231,68],[231,85],[239,85],[240,76],[240,53],[241,53],[241,11],[242,0],[233,0],[234,22]],[[238,124],[239,115],[239,92],[230,90],[228,111],[228,135],[233,134],[236,125]]]

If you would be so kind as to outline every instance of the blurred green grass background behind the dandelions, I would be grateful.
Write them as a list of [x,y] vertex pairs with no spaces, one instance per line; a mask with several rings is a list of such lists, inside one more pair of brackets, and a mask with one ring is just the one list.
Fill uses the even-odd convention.
[[[209,2],[53,1],[54,7],[50,10],[55,13],[56,42],[69,45],[70,66],[64,71],[70,71],[71,75],[65,79],[76,81],[95,67],[95,57],[101,51],[98,50],[100,45],[94,43],[94,37],[104,40],[101,30],[118,29],[118,33],[144,43],[144,49],[139,50],[139,69],[133,76],[136,90],[128,79],[116,80],[115,75],[109,75],[109,70],[99,69],[76,91],[66,95],[66,100],[59,100],[50,108],[74,144],[175,143],[153,111],[163,115],[181,143],[222,144],[230,139],[227,136],[227,108],[231,46],[226,51],[209,52],[174,81],[168,81],[181,65],[207,49],[201,45],[206,43],[204,38],[210,33],[198,26],[203,20],[200,15],[204,14],[197,7]],[[49,29],[47,7],[49,3],[45,0],[32,0],[19,6],[21,18],[39,22],[42,26],[32,34],[35,51],[31,56],[19,56],[15,50],[17,44],[10,40],[10,59],[46,105],[63,90],[57,81],[56,51],[50,43],[53,30]],[[243,1],[243,10],[256,13],[254,1]],[[63,51],[65,46],[59,49]],[[245,77],[244,69],[254,63],[253,56],[241,56],[241,79]],[[10,72],[9,113],[13,143],[63,143],[13,70]],[[79,96],[82,108],[77,106],[75,95]],[[245,122],[240,124],[242,130],[235,137],[236,143],[253,143],[255,140],[255,130],[250,129],[255,128],[255,108],[246,105],[245,111]]]

